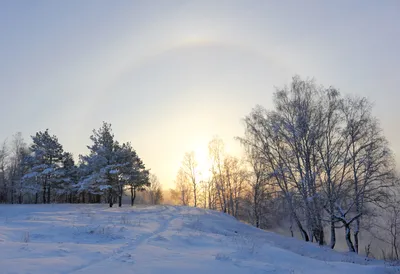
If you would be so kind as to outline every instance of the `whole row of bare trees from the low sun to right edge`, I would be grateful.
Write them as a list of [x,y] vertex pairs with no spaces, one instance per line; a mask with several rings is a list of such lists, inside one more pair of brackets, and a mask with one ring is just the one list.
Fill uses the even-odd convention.
[[285,220],[292,235],[331,248],[342,230],[352,252],[368,231],[390,245],[384,256],[399,259],[398,176],[369,101],[294,77],[273,102],[243,119],[244,136],[236,139],[245,157],[226,155],[218,138],[209,143],[208,180],[186,154],[173,196],[261,228]]

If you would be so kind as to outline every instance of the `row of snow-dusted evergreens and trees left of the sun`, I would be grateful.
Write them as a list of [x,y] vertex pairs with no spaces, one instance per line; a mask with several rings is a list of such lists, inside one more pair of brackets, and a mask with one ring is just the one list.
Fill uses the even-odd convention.
[[161,192],[150,188],[149,170],[130,143],[115,140],[111,124],[93,130],[89,154],[80,155],[78,163],[48,130],[31,138],[28,146],[17,133],[0,149],[0,203],[107,202],[112,207],[122,205],[126,190],[131,205],[138,191]]

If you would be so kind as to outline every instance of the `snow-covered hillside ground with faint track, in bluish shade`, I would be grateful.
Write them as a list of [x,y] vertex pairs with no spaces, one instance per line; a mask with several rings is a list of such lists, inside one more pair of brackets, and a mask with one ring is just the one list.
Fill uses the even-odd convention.
[[173,206],[1,205],[0,273],[400,273]]

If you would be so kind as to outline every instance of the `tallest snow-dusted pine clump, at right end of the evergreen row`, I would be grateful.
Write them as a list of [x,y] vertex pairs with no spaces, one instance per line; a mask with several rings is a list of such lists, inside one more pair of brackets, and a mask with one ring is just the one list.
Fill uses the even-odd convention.
[[114,139],[111,124],[103,122],[90,137],[89,154],[80,156],[79,192],[105,195],[110,207],[115,198],[122,205],[125,187],[131,190],[132,205],[136,191],[148,184],[148,171],[130,143],[119,144]]

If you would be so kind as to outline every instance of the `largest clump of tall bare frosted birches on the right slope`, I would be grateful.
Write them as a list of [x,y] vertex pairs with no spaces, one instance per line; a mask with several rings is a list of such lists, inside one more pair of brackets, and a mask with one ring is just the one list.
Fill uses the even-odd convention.
[[240,140],[256,152],[306,241],[324,244],[328,222],[331,247],[335,229],[344,227],[349,250],[357,252],[366,205],[382,201],[393,181],[391,152],[368,101],[294,77],[275,92],[274,105],[245,118]]

